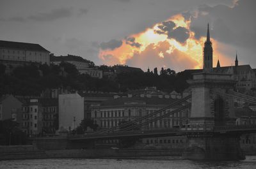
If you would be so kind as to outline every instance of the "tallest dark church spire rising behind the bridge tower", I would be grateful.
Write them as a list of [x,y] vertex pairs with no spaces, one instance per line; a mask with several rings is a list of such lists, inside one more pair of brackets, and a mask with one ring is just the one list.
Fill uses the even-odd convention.
[[210,40],[209,24],[207,27],[207,39],[204,43],[204,72],[212,71],[212,42]]

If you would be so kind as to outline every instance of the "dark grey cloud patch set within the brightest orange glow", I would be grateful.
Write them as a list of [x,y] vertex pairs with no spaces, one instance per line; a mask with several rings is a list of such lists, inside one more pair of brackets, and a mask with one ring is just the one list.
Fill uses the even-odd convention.
[[159,25],[156,33],[158,34],[166,34],[168,38],[174,38],[175,40],[179,41],[180,43],[184,43],[189,38],[189,30],[185,27],[175,27],[175,23],[172,21],[162,22],[162,25]]

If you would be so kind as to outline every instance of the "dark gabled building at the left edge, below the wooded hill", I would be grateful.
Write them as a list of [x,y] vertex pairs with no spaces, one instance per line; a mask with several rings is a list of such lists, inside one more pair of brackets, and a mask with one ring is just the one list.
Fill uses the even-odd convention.
[[13,95],[6,95],[0,98],[0,121],[12,119],[21,122],[20,110],[22,109],[22,101]]

